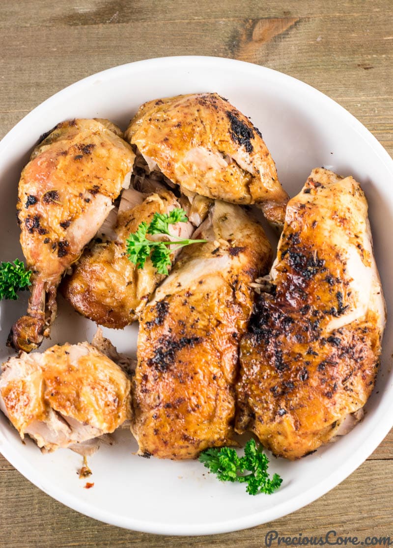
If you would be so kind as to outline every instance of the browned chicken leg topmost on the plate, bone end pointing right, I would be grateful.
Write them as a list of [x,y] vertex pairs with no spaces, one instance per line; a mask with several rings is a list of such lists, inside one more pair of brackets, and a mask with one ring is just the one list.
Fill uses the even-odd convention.
[[150,169],[158,167],[185,194],[257,203],[284,222],[287,193],[257,128],[216,93],[146,102],[126,131]]

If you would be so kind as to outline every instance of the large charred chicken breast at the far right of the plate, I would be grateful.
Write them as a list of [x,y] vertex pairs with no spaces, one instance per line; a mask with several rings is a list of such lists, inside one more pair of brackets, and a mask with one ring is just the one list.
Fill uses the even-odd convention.
[[236,430],[298,459],[345,431],[377,374],[385,305],[352,177],[311,172],[288,203],[271,282],[241,341]]

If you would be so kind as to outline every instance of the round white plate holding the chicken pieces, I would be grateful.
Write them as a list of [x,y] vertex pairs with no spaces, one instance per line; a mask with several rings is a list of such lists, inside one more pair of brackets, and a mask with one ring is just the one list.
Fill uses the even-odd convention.
[[[248,63],[208,57],[150,59],[83,79],[43,102],[0,144],[1,260],[22,258],[15,221],[22,166],[40,134],[75,117],[109,118],[125,128],[144,101],[191,92],[218,92],[252,118],[276,161],[289,195],[303,186],[312,168],[324,166],[354,175],[369,202],[375,255],[390,308],[393,296],[393,161],[363,125],[325,95],[279,72]],[[52,340],[90,340],[95,326],[60,300]],[[5,340],[26,310],[27,295],[1,304],[0,358],[11,355]],[[137,327],[104,330],[120,351],[135,352]],[[202,464],[136,456],[127,431],[118,443],[89,458],[94,487],[78,478],[81,457],[61,449],[42,455],[22,445],[0,413],[0,451],[45,493],[98,520],[150,533],[213,534],[275,520],[317,499],[353,472],[393,425],[392,326],[388,324],[377,386],[361,424],[339,441],[295,463],[271,458],[283,477],[273,495],[250,496],[243,484],[220,483]]]

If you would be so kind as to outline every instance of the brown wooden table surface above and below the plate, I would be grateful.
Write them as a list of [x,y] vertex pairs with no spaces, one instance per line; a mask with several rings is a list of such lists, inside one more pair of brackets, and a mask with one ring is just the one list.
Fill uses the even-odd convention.
[[[251,61],[315,86],[393,153],[391,0],[3,0],[0,26],[0,137],[84,76],[138,59],[199,54]],[[164,537],[84,517],[0,456],[0,546],[252,547],[263,545],[269,529],[393,538],[392,487],[393,431],[340,486],[290,516],[243,532]]]

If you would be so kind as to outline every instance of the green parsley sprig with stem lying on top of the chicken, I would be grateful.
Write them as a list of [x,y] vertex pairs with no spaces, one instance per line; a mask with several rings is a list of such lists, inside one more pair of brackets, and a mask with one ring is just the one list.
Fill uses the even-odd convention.
[[[169,225],[174,225],[176,222],[187,222],[188,218],[181,208],[172,209],[167,213],[155,213],[153,219],[148,225],[147,222],[141,222],[136,232],[133,232],[127,238],[127,255],[131,262],[138,269],[143,269],[146,259],[150,256],[153,266],[156,267],[160,274],[168,274],[168,266],[172,264],[170,254],[176,249],[184,246],[189,246],[191,243],[203,243],[204,239],[181,239],[175,238],[169,242],[155,242],[147,238],[148,234],[161,234],[171,236],[169,233]],[[170,246],[175,246],[170,249]]]

